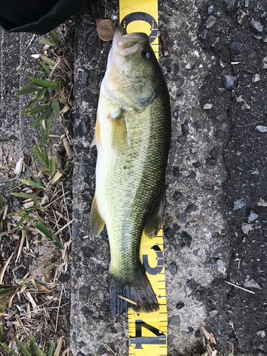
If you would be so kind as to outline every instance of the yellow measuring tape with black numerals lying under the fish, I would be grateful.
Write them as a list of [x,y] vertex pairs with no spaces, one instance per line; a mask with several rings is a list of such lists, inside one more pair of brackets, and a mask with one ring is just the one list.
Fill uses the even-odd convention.
[[[145,32],[159,59],[157,0],[120,0],[120,26],[125,33]],[[142,235],[140,259],[157,296],[159,310],[136,313],[129,308],[129,355],[167,356],[167,303],[162,229],[155,239]]]

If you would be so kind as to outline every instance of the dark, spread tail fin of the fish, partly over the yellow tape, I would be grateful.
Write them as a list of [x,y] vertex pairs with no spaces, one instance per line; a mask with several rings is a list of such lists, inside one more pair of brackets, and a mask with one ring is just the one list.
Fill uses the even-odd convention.
[[136,311],[151,312],[158,310],[157,298],[141,264],[140,268],[130,276],[122,278],[110,273],[109,279],[110,310],[113,316],[127,310],[127,300],[120,298],[118,295],[137,303],[137,305],[131,304]]

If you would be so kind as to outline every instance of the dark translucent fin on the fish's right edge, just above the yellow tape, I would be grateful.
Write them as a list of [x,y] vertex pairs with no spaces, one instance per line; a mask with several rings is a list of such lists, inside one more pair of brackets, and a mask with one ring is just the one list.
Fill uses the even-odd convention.
[[165,207],[165,192],[159,204],[156,206],[155,211],[152,214],[150,214],[150,216],[148,216],[147,221],[145,223],[145,234],[150,239],[157,236],[157,233],[159,232],[159,229],[162,226],[164,207]]

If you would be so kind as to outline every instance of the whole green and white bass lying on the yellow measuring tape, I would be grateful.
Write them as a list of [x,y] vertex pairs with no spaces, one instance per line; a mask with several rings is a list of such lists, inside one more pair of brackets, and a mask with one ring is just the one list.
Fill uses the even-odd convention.
[[[98,149],[92,236],[106,225],[110,242],[110,311],[159,308],[140,261],[143,231],[162,226],[171,108],[162,70],[145,33],[118,27],[100,86],[95,137]],[[121,298],[122,297],[122,298]]]

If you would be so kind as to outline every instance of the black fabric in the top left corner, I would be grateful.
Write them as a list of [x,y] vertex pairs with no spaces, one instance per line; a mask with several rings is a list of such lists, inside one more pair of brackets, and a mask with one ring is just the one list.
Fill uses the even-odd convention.
[[90,0],[0,0],[0,26],[9,32],[43,35]]

